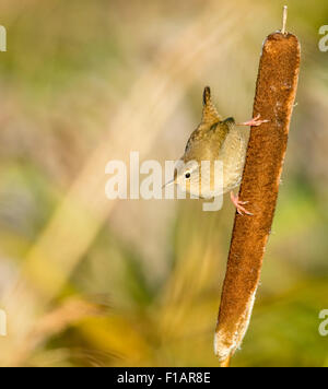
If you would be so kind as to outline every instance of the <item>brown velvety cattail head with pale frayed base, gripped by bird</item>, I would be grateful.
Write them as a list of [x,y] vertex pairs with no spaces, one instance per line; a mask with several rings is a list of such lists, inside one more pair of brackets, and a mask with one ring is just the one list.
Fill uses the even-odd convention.
[[284,30],[285,22],[268,36],[260,58],[254,117],[269,122],[250,131],[239,199],[254,216],[235,217],[215,331],[221,366],[229,366],[247,331],[276,210],[300,69],[298,40]]

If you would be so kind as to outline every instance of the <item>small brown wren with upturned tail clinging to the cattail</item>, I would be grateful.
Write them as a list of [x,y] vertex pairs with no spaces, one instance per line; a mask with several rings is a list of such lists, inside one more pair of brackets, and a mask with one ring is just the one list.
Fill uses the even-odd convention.
[[[260,126],[268,121],[259,118],[243,123],[236,123],[233,118],[223,120],[211,101],[211,90],[207,86],[201,122],[187,142],[174,179],[167,184],[176,184],[190,194],[206,199],[231,191],[231,200],[237,212],[250,214],[243,207],[246,202],[239,201],[238,196],[232,191],[241,184],[247,150],[247,137],[237,126]],[[207,170],[200,168],[203,161],[209,161]],[[221,162],[223,168],[223,188],[220,192],[215,192],[215,161]]]

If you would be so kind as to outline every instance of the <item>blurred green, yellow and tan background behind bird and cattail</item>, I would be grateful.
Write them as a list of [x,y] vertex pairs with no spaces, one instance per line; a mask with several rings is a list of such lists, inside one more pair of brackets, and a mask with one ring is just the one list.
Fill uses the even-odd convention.
[[1,365],[218,366],[233,207],[108,201],[104,172],[130,151],[178,158],[207,84],[223,116],[249,119],[261,45],[284,3],[302,43],[297,106],[233,366],[328,366],[325,0],[1,2]]

